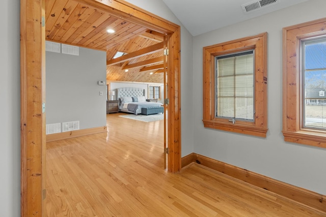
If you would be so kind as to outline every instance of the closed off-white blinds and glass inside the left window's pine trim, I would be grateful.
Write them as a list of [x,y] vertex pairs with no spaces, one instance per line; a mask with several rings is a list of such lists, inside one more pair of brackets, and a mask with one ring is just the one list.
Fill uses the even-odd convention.
[[216,117],[254,120],[254,50],[215,57]]

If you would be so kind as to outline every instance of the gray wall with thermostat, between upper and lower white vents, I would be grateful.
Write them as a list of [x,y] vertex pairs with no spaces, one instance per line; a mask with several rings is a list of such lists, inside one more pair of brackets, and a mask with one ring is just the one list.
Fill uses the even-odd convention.
[[46,123],[106,126],[106,86],[98,81],[106,81],[104,51],[79,47],[79,56],[46,51]]

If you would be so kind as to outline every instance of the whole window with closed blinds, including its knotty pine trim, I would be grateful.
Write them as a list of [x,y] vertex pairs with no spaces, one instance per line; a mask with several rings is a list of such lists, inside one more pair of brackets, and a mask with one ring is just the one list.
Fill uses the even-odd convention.
[[266,137],[267,33],[203,48],[205,128]]

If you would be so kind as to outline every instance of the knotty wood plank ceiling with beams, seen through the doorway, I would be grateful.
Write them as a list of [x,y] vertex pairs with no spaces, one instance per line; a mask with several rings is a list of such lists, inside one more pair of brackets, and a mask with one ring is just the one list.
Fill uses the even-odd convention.
[[[115,33],[107,33],[110,28]],[[163,83],[164,36],[151,29],[74,0],[46,0],[45,35],[47,41],[106,51],[108,81]],[[125,55],[114,59],[117,51]]]

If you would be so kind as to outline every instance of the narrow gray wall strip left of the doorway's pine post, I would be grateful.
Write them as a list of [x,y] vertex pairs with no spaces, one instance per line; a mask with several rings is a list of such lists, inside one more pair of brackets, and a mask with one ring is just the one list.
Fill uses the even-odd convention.
[[19,0],[1,2],[0,216],[20,216]]

